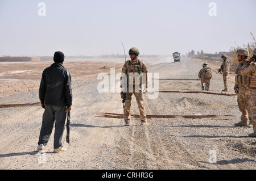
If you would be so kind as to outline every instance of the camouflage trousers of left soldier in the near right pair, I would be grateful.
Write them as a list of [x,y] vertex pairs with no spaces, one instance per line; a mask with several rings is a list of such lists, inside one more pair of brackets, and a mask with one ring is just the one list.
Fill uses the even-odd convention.
[[248,117],[248,104],[247,104],[247,98],[245,95],[246,92],[246,87],[245,86],[240,86],[237,94],[237,103],[238,103],[238,108],[241,111],[241,120],[244,122],[249,121]]

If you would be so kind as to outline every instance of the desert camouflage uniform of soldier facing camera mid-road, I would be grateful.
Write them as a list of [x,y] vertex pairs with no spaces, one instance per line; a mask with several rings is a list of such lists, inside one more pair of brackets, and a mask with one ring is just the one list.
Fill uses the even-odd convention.
[[[129,75],[129,73],[138,73],[139,68],[141,67],[142,73],[146,74],[146,89],[147,89],[147,68],[146,64],[142,60],[137,60],[136,62],[133,62],[131,60],[126,61],[125,65],[123,65],[122,68],[122,73],[125,73],[126,75]],[[122,77],[121,77],[122,79]],[[129,92],[129,88],[127,89],[127,94],[126,94],[126,100],[125,100],[125,107],[123,109],[123,115],[125,119],[125,123],[129,124],[131,121],[131,112],[130,112],[130,107],[131,107],[131,96],[134,94],[138,108],[139,108],[139,113],[141,116],[141,122],[146,123],[147,115],[146,115],[146,110],[144,108],[143,100],[144,100],[144,94],[142,90],[142,85],[140,83],[139,85],[139,91],[135,90],[135,85],[133,85],[133,91]]]

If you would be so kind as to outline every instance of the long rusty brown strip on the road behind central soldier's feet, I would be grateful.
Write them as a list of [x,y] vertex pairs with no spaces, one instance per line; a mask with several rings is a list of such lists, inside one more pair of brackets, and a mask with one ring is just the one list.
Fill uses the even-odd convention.
[[[112,117],[112,118],[123,118],[123,114],[118,113],[107,113],[107,112],[97,112],[96,114],[99,117]],[[140,115],[131,115],[134,118],[140,118]],[[209,117],[232,117],[236,118],[236,116],[232,115],[147,115],[147,118],[209,118]]]

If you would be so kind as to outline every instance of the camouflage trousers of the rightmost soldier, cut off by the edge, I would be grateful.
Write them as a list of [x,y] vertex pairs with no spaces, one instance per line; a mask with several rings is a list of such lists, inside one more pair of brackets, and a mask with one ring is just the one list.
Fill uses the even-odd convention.
[[246,97],[248,104],[248,112],[251,123],[256,125],[256,90],[250,90],[250,94]]

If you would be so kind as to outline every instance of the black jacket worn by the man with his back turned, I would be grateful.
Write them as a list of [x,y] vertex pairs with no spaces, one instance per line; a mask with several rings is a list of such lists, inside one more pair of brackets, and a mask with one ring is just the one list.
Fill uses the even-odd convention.
[[44,69],[39,88],[41,104],[72,106],[71,75],[62,64],[53,63]]

